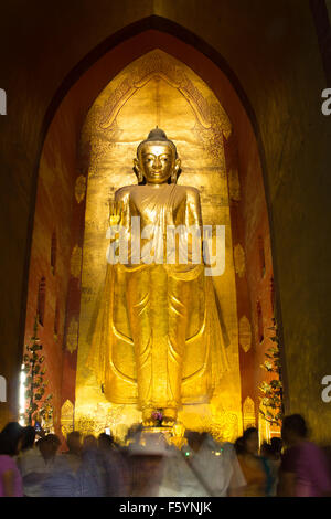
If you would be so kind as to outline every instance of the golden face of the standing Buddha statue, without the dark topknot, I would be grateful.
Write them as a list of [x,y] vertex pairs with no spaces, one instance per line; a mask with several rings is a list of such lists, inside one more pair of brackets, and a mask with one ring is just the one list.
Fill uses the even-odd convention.
[[180,160],[175,158],[173,147],[167,142],[146,142],[134,162],[136,169],[150,184],[167,182],[180,168]]

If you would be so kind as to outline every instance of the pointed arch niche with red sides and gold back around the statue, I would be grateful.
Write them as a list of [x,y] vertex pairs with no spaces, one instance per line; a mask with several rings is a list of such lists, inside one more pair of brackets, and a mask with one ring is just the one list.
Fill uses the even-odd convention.
[[[264,378],[259,366],[268,340],[245,351],[238,322],[245,317],[256,329],[257,299],[264,306],[266,329],[273,317],[268,212],[245,96],[193,45],[156,30],[119,43],[86,65],[84,73],[81,65],[76,83],[62,96],[41,156],[29,279],[26,338],[33,325],[36,276],[49,276],[43,272],[49,268],[49,250],[42,244],[49,243],[56,225],[62,230],[56,275],[50,279],[42,330],[50,339],[50,385],[58,395],[55,415],[70,400],[75,403],[76,428],[96,433],[110,426],[119,437],[139,421],[132,406],[106,401],[85,362],[106,268],[108,201],[119,187],[136,183],[137,145],[158,125],[177,144],[182,159],[179,183],[201,191],[204,223],[226,226],[226,268],[214,283],[231,370],[209,405],[186,407],[180,420],[186,427],[234,439],[243,427],[242,402],[247,395],[258,409],[257,386]],[[259,236],[265,244],[263,279]],[[61,343],[51,340],[56,300],[63,316]],[[60,420],[56,426],[61,433]]]

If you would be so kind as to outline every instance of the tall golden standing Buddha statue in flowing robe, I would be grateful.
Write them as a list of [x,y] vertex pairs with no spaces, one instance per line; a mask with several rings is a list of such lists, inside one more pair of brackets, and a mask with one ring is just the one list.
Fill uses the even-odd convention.
[[[138,184],[116,191],[110,214],[110,229],[129,246],[107,265],[88,367],[110,402],[136,403],[146,426],[161,412],[162,425],[171,426],[182,405],[209,402],[227,369],[226,352],[204,275],[200,193],[177,184],[177,148],[158,127],[134,165]],[[173,229],[182,233],[174,252]]]

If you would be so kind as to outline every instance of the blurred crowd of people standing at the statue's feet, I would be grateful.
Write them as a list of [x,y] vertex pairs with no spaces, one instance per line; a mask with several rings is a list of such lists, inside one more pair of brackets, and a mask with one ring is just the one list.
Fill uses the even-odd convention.
[[9,423],[0,433],[0,497],[331,496],[329,458],[299,414],[261,445],[255,427],[234,444],[186,431],[178,448],[135,426],[125,445],[73,431],[60,447],[55,434],[36,439],[34,427]]

